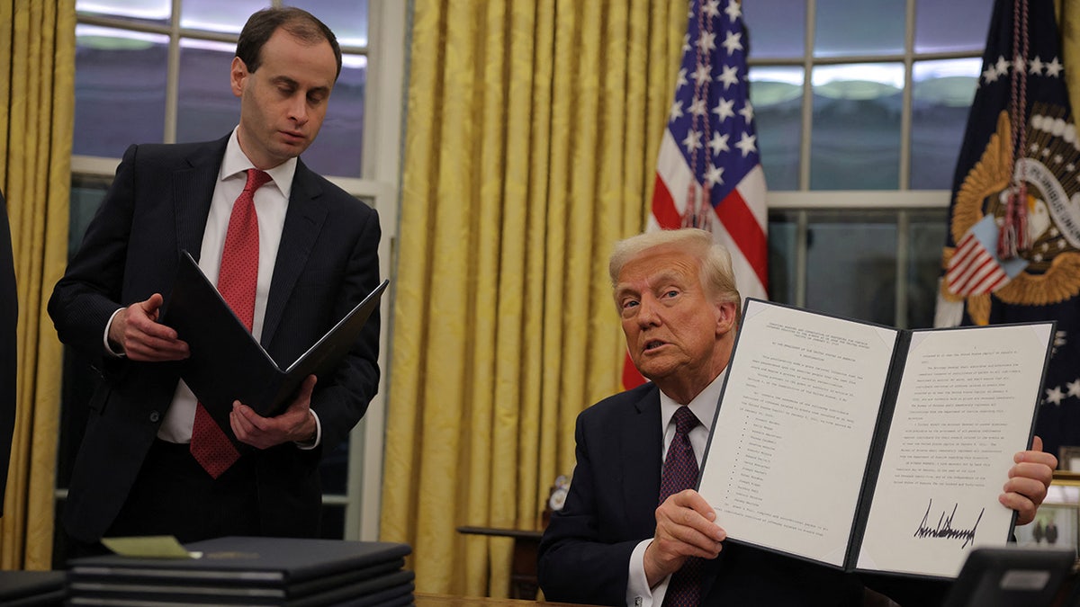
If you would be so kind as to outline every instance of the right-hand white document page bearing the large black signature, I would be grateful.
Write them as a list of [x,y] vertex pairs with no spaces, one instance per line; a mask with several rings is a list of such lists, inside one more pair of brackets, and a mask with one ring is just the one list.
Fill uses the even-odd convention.
[[915,332],[859,568],[955,577],[1004,545],[998,502],[1027,446],[1052,325]]

